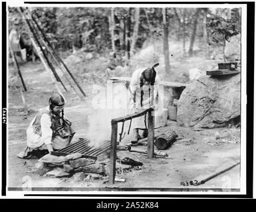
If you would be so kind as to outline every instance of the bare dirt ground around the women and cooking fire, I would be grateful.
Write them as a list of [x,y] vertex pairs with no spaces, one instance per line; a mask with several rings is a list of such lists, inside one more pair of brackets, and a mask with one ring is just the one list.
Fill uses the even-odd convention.
[[[39,108],[46,107],[51,92],[55,89],[51,78],[41,64],[30,62],[21,66],[23,78],[28,91],[25,99],[29,114],[25,115],[21,101],[21,93],[17,87],[8,89],[8,132],[7,132],[7,187],[9,190],[22,189],[27,179],[31,179],[34,189],[43,190],[126,190],[126,191],[239,191],[240,166],[205,182],[201,185],[182,185],[182,182],[203,180],[240,161],[240,129],[236,127],[219,129],[192,129],[178,127],[174,121],[168,121],[168,126],[156,130],[174,129],[178,139],[174,144],[163,150],[170,158],[148,159],[146,154],[136,154],[143,162],[140,170],[118,174],[126,182],[116,182],[111,185],[106,180],[88,180],[74,182],[73,178],[49,178],[39,176],[34,165],[37,159],[21,160],[17,154],[26,146],[26,129],[37,114]],[[13,67],[9,68],[13,73]],[[9,78],[12,74],[9,74]],[[9,79],[11,80],[11,79]],[[94,127],[90,126],[90,116],[97,113],[90,107],[93,97],[90,86],[82,83],[88,96],[80,101],[74,92],[64,93],[66,98],[65,115],[72,121],[76,130],[74,138],[89,137]],[[110,123],[103,123],[108,126]],[[105,128],[105,130],[108,129]],[[104,131],[98,128],[95,134]],[[232,139],[216,139],[216,134],[230,132]],[[110,134],[110,132],[108,132]],[[130,136],[122,142],[126,143]],[[137,146],[146,150],[146,144]]]

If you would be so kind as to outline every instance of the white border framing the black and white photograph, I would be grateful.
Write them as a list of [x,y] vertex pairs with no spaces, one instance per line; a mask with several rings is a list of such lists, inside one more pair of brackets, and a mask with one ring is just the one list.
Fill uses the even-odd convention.
[[[104,1],[104,0],[103,0]],[[116,0],[114,0],[116,1]],[[164,0],[166,1],[166,0]],[[64,1],[59,1],[64,2]],[[107,1],[106,1],[107,2]],[[118,2],[118,1],[117,1]],[[135,1],[136,2],[136,1]],[[145,3],[151,2],[151,1],[145,1]],[[12,198],[19,198],[24,197],[24,194],[110,194],[110,195],[122,195],[122,194],[152,194],[154,197],[152,198],[158,198],[157,195],[243,195],[246,194],[246,103],[247,103],[247,96],[246,96],[246,66],[247,66],[247,5],[246,4],[229,4],[228,1],[225,4],[172,4],[172,2],[166,1],[166,4],[145,4],[143,7],[207,7],[207,8],[233,8],[233,7],[241,7],[241,146],[240,146],[240,157],[241,157],[241,168],[240,168],[240,191],[231,191],[231,192],[225,192],[225,191],[7,191],[7,197]],[[216,2],[217,3],[217,2]],[[17,3],[17,1],[10,1],[7,2],[7,20],[8,20],[8,7],[141,7],[140,4],[24,4],[24,3]],[[8,50],[8,23],[7,23],[7,50]],[[8,60],[8,58],[7,58]],[[8,70],[8,61],[7,61],[7,70]],[[8,72],[7,72],[7,79],[8,79]],[[6,80],[7,80],[6,79]],[[8,83],[7,83],[8,84]],[[7,94],[7,111],[8,111],[8,94]],[[8,125],[7,125],[7,140],[8,140]],[[8,164],[9,164],[9,155],[8,155],[8,144],[7,144],[7,173],[8,173]],[[7,176],[7,185],[8,185],[8,176]],[[195,187],[196,188],[196,187]],[[113,193],[114,192],[114,193]],[[30,198],[30,197],[24,197],[24,198]],[[33,197],[34,198],[34,197]],[[35,197],[37,198],[37,197]],[[42,197],[40,197],[42,198]],[[53,197],[55,198],[55,197]],[[60,198],[60,197],[57,197]],[[61,197],[63,199],[72,199],[72,197]],[[114,197],[82,197],[83,199],[91,199],[91,198],[97,198],[97,199],[113,199]],[[125,199],[130,199],[132,197],[124,197]],[[143,197],[136,197],[138,199],[143,199]],[[150,198],[150,197],[147,197]],[[165,197],[159,197],[161,199],[165,199]],[[43,197],[43,199],[49,199],[49,197]]]

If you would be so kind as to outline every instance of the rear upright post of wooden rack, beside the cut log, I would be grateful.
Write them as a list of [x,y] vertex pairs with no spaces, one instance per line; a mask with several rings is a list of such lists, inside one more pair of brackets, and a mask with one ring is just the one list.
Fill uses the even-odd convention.
[[148,112],[148,158],[154,157],[154,113],[153,111]]

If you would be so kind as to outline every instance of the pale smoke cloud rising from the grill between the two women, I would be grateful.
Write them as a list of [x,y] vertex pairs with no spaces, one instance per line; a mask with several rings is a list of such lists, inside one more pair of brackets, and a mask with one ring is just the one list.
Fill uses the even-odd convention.
[[[128,89],[122,83],[107,88],[92,87],[92,114],[88,116],[87,137],[91,146],[111,140],[111,120],[128,115]],[[118,125],[118,132],[120,131]]]

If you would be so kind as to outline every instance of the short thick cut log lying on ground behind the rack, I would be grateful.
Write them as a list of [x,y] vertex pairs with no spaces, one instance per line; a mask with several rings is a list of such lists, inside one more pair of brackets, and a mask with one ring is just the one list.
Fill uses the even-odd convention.
[[177,136],[176,132],[170,129],[169,131],[163,132],[156,138],[155,145],[159,150],[165,150],[170,147],[170,145],[176,140]]

